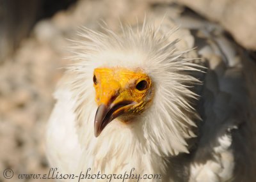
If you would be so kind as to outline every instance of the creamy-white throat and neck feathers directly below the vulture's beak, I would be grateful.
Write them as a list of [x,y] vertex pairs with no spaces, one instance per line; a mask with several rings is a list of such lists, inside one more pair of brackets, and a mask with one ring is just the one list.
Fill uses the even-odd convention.
[[[97,174],[99,171],[106,175],[152,174],[163,181],[177,179],[177,174],[172,169],[177,169],[178,163],[173,167],[170,158],[157,153],[157,150],[152,148],[154,145],[141,132],[142,127],[141,121],[127,125],[115,119],[109,123],[99,137],[93,136],[95,140],[86,149],[87,154],[83,155],[86,156],[84,160],[87,163],[88,161],[92,163],[88,163],[86,167],[83,166],[83,171],[91,168],[92,174]],[[179,165],[182,164],[179,163]],[[128,181],[134,181],[134,179]]]

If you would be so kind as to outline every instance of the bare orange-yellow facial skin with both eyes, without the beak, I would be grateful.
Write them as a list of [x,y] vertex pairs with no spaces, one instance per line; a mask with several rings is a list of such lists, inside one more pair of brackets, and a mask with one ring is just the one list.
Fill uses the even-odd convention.
[[141,69],[96,68],[93,82],[98,105],[134,103],[125,112],[141,112],[149,102],[148,92],[152,91],[151,79]]

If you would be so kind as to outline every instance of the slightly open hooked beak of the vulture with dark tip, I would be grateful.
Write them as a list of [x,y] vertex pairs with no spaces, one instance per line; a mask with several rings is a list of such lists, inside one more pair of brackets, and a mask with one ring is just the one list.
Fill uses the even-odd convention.
[[109,106],[100,104],[95,114],[94,120],[94,135],[98,137],[102,130],[115,118],[128,112],[134,102],[125,101],[119,103],[111,103]]

